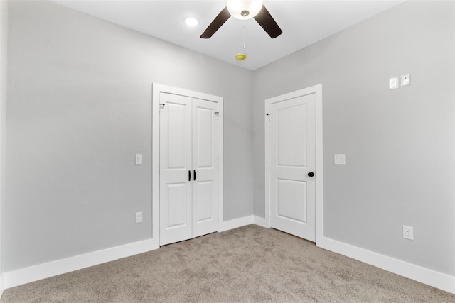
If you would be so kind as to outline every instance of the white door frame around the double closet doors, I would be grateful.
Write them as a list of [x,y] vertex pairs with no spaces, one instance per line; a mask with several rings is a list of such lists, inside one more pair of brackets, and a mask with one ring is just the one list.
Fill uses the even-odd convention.
[[211,94],[201,92],[193,92],[188,89],[180,89],[177,87],[170,87],[168,85],[153,83],[152,84],[152,106],[151,106],[151,190],[152,190],[152,241],[154,247],[159,247],[159,159],[160,159],[160,140],[159,140],[159,125],[160,125],[160,94],[178,94],[191,98],[203,99],[218,103],[218,231],[220,231],[220,224],[223,221],[223,97],[218,97]]

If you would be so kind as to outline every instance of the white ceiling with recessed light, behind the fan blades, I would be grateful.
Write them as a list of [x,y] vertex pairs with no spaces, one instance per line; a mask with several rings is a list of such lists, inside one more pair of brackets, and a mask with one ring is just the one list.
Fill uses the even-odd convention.
[[[370,18],[403,1],[393,0],[294,0],[268,1],[264,6],[272,14],[282,35],[270,38],[254,19],[229,20],[210,39],[199,38],[226,6],[225,0],[54,0],[58,4],[91,16],[196,50],[225,62],[256,70],[274,60],[294,53],[333,33]],[[199,21],[195,28],[184,23],[191,16]],[[235,60],[243,53],[247,59]]]

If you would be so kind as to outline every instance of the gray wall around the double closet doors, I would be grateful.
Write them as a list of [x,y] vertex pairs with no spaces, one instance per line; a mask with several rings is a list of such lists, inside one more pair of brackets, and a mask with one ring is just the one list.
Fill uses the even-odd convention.
[[152,82],[225,98],[225,220],[252,215],[252,72],[47,1],[10,2],[8,60],[4,271],[151,238]]

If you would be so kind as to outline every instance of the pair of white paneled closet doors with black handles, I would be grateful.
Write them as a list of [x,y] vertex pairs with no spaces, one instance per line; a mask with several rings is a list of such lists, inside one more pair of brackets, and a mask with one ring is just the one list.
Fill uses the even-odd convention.
[[160,245],[218,231],[218,103],[160,94]]

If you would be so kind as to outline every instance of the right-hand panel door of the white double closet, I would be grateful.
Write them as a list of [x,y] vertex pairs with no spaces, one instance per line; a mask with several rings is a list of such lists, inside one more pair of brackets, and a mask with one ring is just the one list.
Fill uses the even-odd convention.
[[193,237],[218,231],[218,120],[215,111],[218,111],[217,103],[193,99]]

